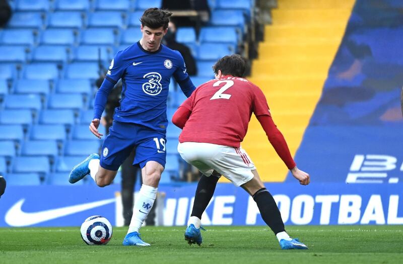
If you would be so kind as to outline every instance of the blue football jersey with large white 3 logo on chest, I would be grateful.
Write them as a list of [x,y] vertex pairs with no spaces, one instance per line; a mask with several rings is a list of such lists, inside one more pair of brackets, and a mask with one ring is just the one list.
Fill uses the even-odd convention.
[[161,44],[157,51],[150,52],[139,41],[118,51],[105,77],[113,83],[122,79],[120,107],[115,109],[113,119],[165,133],[172,76],[178,82],[189,78],[183,57],[176,50]]

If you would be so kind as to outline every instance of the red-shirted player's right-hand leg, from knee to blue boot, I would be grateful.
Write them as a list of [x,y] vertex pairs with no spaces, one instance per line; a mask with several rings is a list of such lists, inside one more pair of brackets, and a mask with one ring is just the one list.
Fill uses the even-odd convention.
[[272,194],[264,187],[256,170],[252,170],[252,180],[241,185],[256,202],[263,221],[272,229],[279,240],[281,249],[308,249],[298,238],[291,238],[284,227],[281,213]]

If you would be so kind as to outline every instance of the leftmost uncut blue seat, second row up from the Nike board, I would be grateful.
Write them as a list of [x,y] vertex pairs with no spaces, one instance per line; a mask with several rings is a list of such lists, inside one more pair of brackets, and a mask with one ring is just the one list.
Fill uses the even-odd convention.
[[17,156],[13,160],[13,172],[48,173],[50,172],[49,158],[46,156]]

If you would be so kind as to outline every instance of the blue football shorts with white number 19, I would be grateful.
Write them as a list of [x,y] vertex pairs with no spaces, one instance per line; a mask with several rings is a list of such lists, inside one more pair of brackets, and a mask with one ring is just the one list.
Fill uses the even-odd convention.
[[153,160],[165,167],[165,134],[151,128],[113,121],[102,145],[100,165],[109,170],[118,170],[119,166],[136,148],[133,165],[143,168],[147,161]]

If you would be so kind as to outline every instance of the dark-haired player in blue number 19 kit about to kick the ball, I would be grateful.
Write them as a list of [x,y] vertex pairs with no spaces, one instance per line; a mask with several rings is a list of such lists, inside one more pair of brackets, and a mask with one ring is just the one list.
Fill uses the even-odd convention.
[[149,246],[139,234],[153,207],[158,183],[165,166],[166,109],[171,76],[189,97],[195,90],[178,51],[161,44],[172,13],[147,9],[141,17],[142,39],[117,52],[95,96],[91,132],[101,138],[98,126],[108,94],[122,79],[120,107],[115,109],[113,125],[102,146],[101,156],[91,154],[70,172],[69,182],[76,183],[90,174],[100,187],[109,185],[119,166],[136,147],[133,165],[142,169],[143,185],[133,208],[123,245]]

